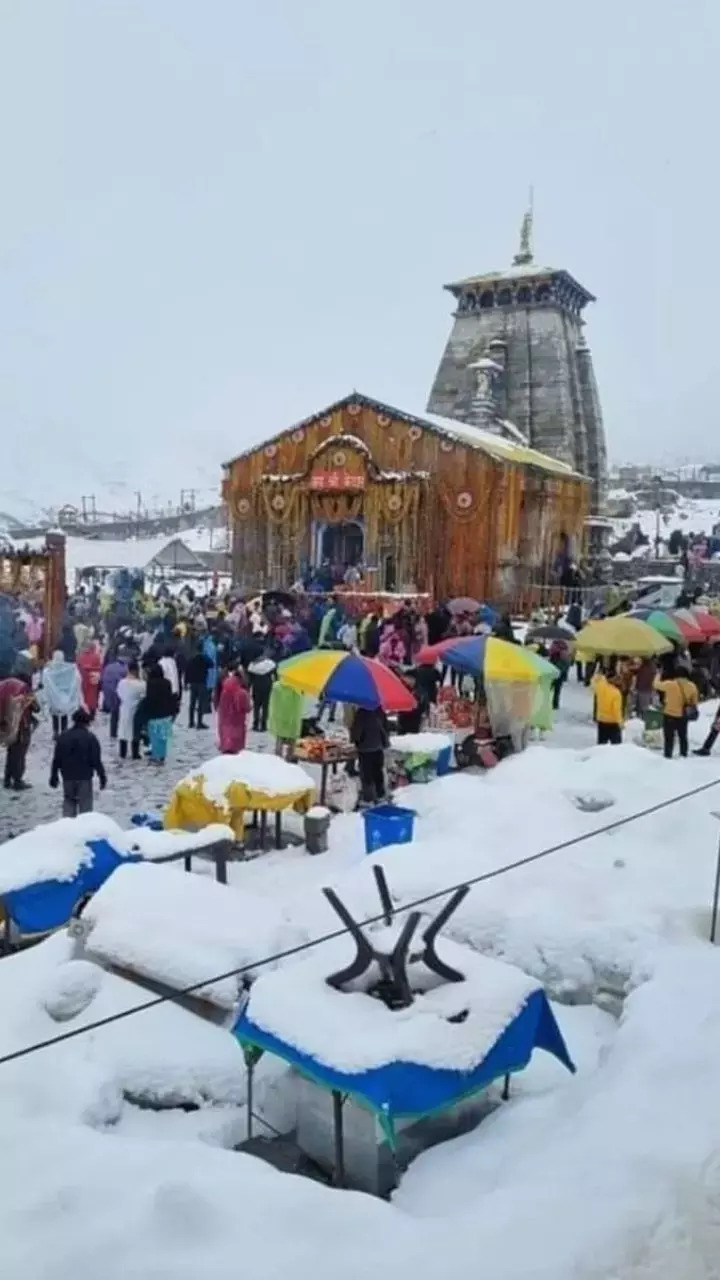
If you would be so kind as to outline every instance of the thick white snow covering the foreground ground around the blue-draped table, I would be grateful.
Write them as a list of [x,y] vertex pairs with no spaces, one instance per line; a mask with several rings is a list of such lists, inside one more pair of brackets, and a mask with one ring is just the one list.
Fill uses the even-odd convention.
[[[621,748],[594,748],[589,712],[587,690],[570,684],[547,742],[487,776],[404,792],[416,810],[415,841],[374,855],[396,901],[719,778],[712,758],[665,762],[634,745],[637,726]],[[692,726],[696,742],[708,714]],[[32,792],[0,797],[5,831],[56,817],[49,751],[44,727],[31,754]],[[181,726],[164,773],[113,764],[102,809],[126,826],[213,754],[210,733]],[[5,1272],[231,1280],[250,1267],[260,1280],[290,1270],[366,1280],[393,1267],[418,1280],[480,1265],[493,1280],[717,1277],[720,954],[706,941],[720,835],[714,809],[720,787],[471,890],[447,934],[544,983],[579,1070],[570,1076],[536,1055],[510,1102],[474,1133],[420,1156],[391,1203],[275,1174],[232,1151],[245,1133],[240,1048],[225,1029],[174,1005],[1,1065]],[[210,897],[228,896],[214,946],[202,942],[202,911],[191,924],[184,905],[197,877],[177,867],[117,874],[126,888],[133,873],[167,883],[168,901],[182,882],[179,927],[160,911],[142,927],[161,959],[164,947],[182,947],[187,915],[193,963],[206,945],[210,978],[231,954],[232,920],[243,929],[249,910],[258,946],[270,946],[278,913],[297,937],[333,929],[323,884],[355,914],[375,914],[369,870],[355,814],[333,819],[325,855],[288,849],[233,864],[231,884],[213,884],[205,906],[211,918]],[[120,887],[106,895],[106,919],[122,950]],[[260,900],[266,911],[252,908]],[[0,1056],[146,998],[72,955],[72,942],[55,937],[0,961]],[[152,947],[145,963],[155,963]],[[199,1110],[158,1112],[149,1102]],[[269,1124],[288,1126],[284,1068],[263,1060],[255,1106]]]

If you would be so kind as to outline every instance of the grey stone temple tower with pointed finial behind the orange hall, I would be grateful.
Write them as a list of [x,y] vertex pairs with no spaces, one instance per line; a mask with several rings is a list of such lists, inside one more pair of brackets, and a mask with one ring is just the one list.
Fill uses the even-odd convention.
[[525,439],[569,462],[591,477],[592,509],[602,513],[605,430],[582,319],[592,293],[569,271],[536,266],[532,211],[511,268],[446,289],[457,308],[428,412]]

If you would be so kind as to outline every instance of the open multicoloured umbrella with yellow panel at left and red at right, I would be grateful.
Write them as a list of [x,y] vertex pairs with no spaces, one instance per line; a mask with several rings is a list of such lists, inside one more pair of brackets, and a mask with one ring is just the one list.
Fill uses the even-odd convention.
[[389,667],[340,649],[309,649],[281,662],[278,676],[299,694],[374,710],[411,712],[415,699]]

